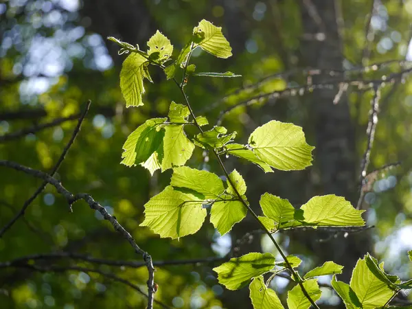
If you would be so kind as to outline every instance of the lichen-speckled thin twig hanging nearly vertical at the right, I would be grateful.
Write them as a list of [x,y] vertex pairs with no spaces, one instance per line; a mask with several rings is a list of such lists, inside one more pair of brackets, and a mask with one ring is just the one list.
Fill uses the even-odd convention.
[[363,153],[363,158],[361,161],[361,174],[359,176],[359,186],[360,186],[360,196],[356,209],[361,209],[363,198],[365,197],[365,191],[362,190],[363,185],[365,185],[365,179],[367,175],[367,167],[369,165],[369,157],[371,155],[371,149],[374,145],[376,124],[378,124],[378,113],[379,113],[379,100],[380,100],[380,89],[376,87],[374,97],[371,100],[371,109],[369,110],[369,122],[367,124],[366,135],[367,135],[367,145],[365,152]]

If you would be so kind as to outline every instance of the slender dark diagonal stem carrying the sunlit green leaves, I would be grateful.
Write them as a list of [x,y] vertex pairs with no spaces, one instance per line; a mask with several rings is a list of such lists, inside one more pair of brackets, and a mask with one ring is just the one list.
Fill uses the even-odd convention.
[[[189,58],[187,59],[186,65],[189,62]],[[183,78],[185,78],[185,76],[183,76]],[[198,130],[201,131],[201,133],[203,133],[203,129],[201,128],[201,126],[198,125],[198,123],[196,122],[196,115],[194,115],[194,112],[192,110],[192,106],[190,106],[190,102],[187,98],[187,95],[185,93],[185,90],[183,89],[183,84],[179,84],[179,82],[177,82],[177,80],[175,78],[173,78],[174,82],[176,83],[176,85],[179,87],[183,98],[185,98],[185,102],[187,105],[187,108],[189,108],[190,111],[190,115],[192,115],[193,117],[193,121],[194,124],[196,125],[196,127],[198,128]],[[264,224],[259,220],[259,217],[257,214],[255,214],[255,211],[253,211],[253,209],[251,209],[251,207],[247,204],[246,201],[244,201],[244,199],[242,198],[242,195],[238,192],[238,190],[236,189],[236,185],[235,183],[233,183],[233,181],[231,180],[231,178],[229,177],[229,173],[227,172],[225,165],[222,162],[222,159],[220,159],[220,156],[218,155],[218,152],[216,152],[216,150],[214,148],[211,149],[212,152],[214,153],[214,155],[216,156],[216,158],[218,159],[218,163],[220,165],[220,168],[222,168],[223,172],[225,173],[225,176],[227,178],[227,181],[229,181],[229,183],[231,184],[231,186],[233,187],[233,190],[236,192],[236,195],[239,198],[239,201],[242,202],[242,204],[244,205],[244,207],[247,208],[247,210],[249,210],[249,212],[252,214],[253,218],[255,218],[255,220],[257,220],[260,224],[260,226],[262,227],[262,229],[264,230],[264,233],[266,233],[267,236],[269,236],[269,238],[271,239],[271,241],[273,242],[273,244],[275,245],[277,251],[279,251],[280,255],[282,255],[282,258],[285,261],[286,264],[286,268],[288,268],[288,270],[290,271],[290,273],[293,276],[293,279],[297,282],[297,284],[299,284],[299,286],[301,287],[302,293],[304,293],[305,297],[310,301],[310,304],[312,304],[312,306],[314,306],[314,308],[319,309],[319,306],[317,306],[317,304],[313,301],[313,299],[310,297],[310,295],[308,294],[308,291],[306,290],[306,288],[304,287],[304,280],[299,276],[299,273],[297,273],[295,271],[295,269],[293,269],[292,265],[290,264],[290,262],[288,261],[288,259],[286,258],[285,253],[282,251],[282,248],[279,246],[279,244],[277,243],[277,241],[275,240],[275,238],[273,238],[272,233],[270,231],[268,231],[268,229],[266,229],[266,227],[264,226]]]

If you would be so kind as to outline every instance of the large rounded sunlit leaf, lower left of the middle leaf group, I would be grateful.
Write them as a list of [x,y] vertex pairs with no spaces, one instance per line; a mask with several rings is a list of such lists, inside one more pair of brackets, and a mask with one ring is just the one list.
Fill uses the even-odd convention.
[[150,227],[163,238],[196,233],[206,217],[202,203],[192,194],[176,191],[171,186],[165,187],[144,205],[145,219],[141,226]]

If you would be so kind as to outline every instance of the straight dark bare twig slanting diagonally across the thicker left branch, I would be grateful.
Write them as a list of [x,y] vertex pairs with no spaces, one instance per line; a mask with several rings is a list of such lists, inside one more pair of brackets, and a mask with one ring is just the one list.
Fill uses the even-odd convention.
[[[52,171],[50,172],[50,176],[54,176],[54,174],[56,174],[58,168],[60,168],[61,163],[63,162],[63,160],[65,159],[67,152],[69,151],[69,148],[71,147],[71,145],[73,145],[74,140],[76,139],[78,133],[80,132],[80,128],[82,126],[84,117],[86,117],[87,112],[89,111],[90,108],[90,104],[91,101],[89,100],[86,104],[86,107],[84,108],[84,111],[81,113],[79,120],[78,120],[78,124],[76,126],[76,128],[74,128],[73,130],[73,134],[71,135],[71,138],[69,140],[69,142],[67,143],[67,145],[65,146],[65,148],[62,151],[62,154],[60,155],[60,157],[58,158],[56,164],[54,165],[54,168],[52,169]],[[25,210],[27,209],[27,207],[29,207],[29,205],[34,201],[34,199],[38,196],[38,194],[41,194],[41,192],[43,192],[43,190],[45,189],[45,186],[47,185],[47,181],[43,181],[43,183],[37,188],[36,192],[34,192],[34,194],[32,196],[30,196],[30,198],[25,201],[25,203],[23,204],[23,207],[21,207],[20,211],[18,214],[16,214],[16,216],[14,216],[14,218],[12,218],[12,220],[10,220],[1,230],[0,230],[0,238],[3,237],[3,234],[5,233],[5,231],[8,231],[8,229],[10,229],[10,227],[12,227],[12,225],[14,225],[14,223],[19,220],[19,218],[21,218],[22,216],[24,216]]]

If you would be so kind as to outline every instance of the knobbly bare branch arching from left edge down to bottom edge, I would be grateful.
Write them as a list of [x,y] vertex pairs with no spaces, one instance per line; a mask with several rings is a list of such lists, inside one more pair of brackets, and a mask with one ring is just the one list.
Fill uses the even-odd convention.
[[67,203],[69,203],[69,206],[82,199],[84,200],[87,204],[89,204],[89,207],[91,209],[97,210],[102,214],[103,218],[105,220],[108,220],[108,222],[111,222],[111,225],[113,225],[113,228],[115,231],[118,231],[124,239],[126,239],[130,245],[133,247],[136,253],[140,254],[143,256],[144,262],[146,264],[146,267],[148,268],[148,273],[149,273],[149,278],[148,278],[148,309],[153,308],[153,293],[155,293],[155,268],[153,267],[152,264],[152,258],[150,255],[142,250],[135,242],[133,237],[130,235],[122,225],[117,222],[116,218],[108,214],[106,211],[106,208],[102,207],[99,203],[97,203],[93,197],[89,194],[85,193],[80,193],[73,195],[71,192],[69,192],[65,187],[62,186],[60,181],[55,179],[54,177],[50,176],[49,174],[45,172],[41,172],[40,170],[34,170],[32,168],[28,168],[24,165],[20,165],[19,163],[15,163],[12,161],[5,161],[5,160],[0,160],[0,166],[5,166],[7,168],[13,168],[14,170],[19,170],[21,172],[25,172],[26,174],[30,174],[32,176],[38,177],[40,179],[43,179],[46,183],[49,183],[56,187],[56,190],[58,193],[60,193],[62,196],[64,196],[67,200]]

